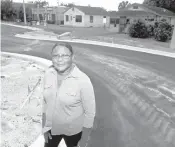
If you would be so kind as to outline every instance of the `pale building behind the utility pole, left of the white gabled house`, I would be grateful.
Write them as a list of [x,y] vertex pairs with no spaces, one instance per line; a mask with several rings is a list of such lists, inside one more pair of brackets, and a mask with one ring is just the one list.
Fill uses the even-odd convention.
[[40,21],[46,20],[53,24],[64,24],[64,12],[68,8],[65,6],[59,7],[45,7],[45,8],[33,8],[32,9],[32,19],[38,20],[37,15],[39,13]]

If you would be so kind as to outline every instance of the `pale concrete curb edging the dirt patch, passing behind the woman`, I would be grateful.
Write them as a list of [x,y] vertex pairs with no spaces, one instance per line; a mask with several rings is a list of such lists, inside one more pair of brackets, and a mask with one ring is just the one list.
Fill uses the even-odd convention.
[[[45,69],[48,68],[50,65],[52,65],[52,62],[50,60],[34,57],[30,55],[22,55],[17,53],[8,53],[8,52],[1,52],[0,55],[5,57],[11,56],[22,60],[33,61]],[[29,147],[44,147],[44,136],[39,135],[39,137]],[[66,147],[63,139],[61,140],[58,147]]]

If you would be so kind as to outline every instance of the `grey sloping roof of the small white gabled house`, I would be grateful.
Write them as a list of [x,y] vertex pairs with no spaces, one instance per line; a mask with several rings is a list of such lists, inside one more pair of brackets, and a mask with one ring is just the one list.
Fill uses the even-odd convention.
[[100,7],[90,7],[90,6],[74,6],[80,11],[84,12],[86,15],[105,15],[109,16],[109,13]]

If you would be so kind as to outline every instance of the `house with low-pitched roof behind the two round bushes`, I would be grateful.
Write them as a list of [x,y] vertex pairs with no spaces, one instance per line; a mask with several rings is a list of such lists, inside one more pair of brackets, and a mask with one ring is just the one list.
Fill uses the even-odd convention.
[[110,12],[109,14],[111,24],[119,27],[120,32],[127,32],[130,24],[138,19],[144,21],[146,24],[154,24],[162,19],[170,24],[174,24],[175,21],[175,13],[167,9],[137,3],[123,10]]

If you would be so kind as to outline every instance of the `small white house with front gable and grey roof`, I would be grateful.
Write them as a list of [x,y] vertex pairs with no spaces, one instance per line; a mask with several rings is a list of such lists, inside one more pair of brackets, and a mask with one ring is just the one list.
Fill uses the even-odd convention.
[[64,25],[78,27],[108,27],[109,13],[100,7],[73,6],[64,12]]

